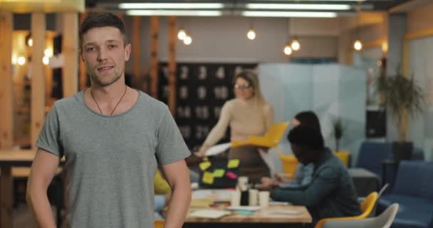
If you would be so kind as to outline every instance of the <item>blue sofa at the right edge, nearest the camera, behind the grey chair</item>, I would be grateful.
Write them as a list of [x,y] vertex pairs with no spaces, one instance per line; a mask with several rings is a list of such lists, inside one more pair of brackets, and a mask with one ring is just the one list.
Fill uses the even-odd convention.
[[382,195],[377,212],[397,202],[392,228],[429,228],[433,222],[433,162],[401,161],[392,192]]

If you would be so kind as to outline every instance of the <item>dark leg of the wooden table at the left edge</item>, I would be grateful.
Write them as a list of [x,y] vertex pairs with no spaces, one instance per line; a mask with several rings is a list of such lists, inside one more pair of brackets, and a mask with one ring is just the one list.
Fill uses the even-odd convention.
[[8,165],[1,166],[0,227],[12,227],[12,173]]

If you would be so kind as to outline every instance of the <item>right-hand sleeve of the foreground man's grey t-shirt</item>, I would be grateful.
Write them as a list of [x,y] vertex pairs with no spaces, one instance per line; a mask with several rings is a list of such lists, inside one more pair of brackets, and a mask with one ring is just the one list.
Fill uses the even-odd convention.
[[191,155],[167,107],[164,108],[157,130],[157,150],[159,165],[167,165]]

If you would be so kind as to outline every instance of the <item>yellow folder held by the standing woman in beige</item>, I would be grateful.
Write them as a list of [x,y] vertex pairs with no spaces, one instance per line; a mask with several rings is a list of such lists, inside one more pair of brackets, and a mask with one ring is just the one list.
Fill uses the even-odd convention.
[[231,147],[240,147],[243,145],[256,145],[260,147],[276,147],[284,132],[288,127],[288,122],[275,123],[269,128],[264,136],[250,136],[248,140],[234,140],[231,141]]

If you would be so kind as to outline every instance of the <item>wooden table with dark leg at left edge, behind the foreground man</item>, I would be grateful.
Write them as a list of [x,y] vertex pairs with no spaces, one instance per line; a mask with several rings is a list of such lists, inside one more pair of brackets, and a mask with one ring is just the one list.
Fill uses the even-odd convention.
[[0,227],[12,227],[12,168],[30,167],[35,155],[36,150],[0,150]]

